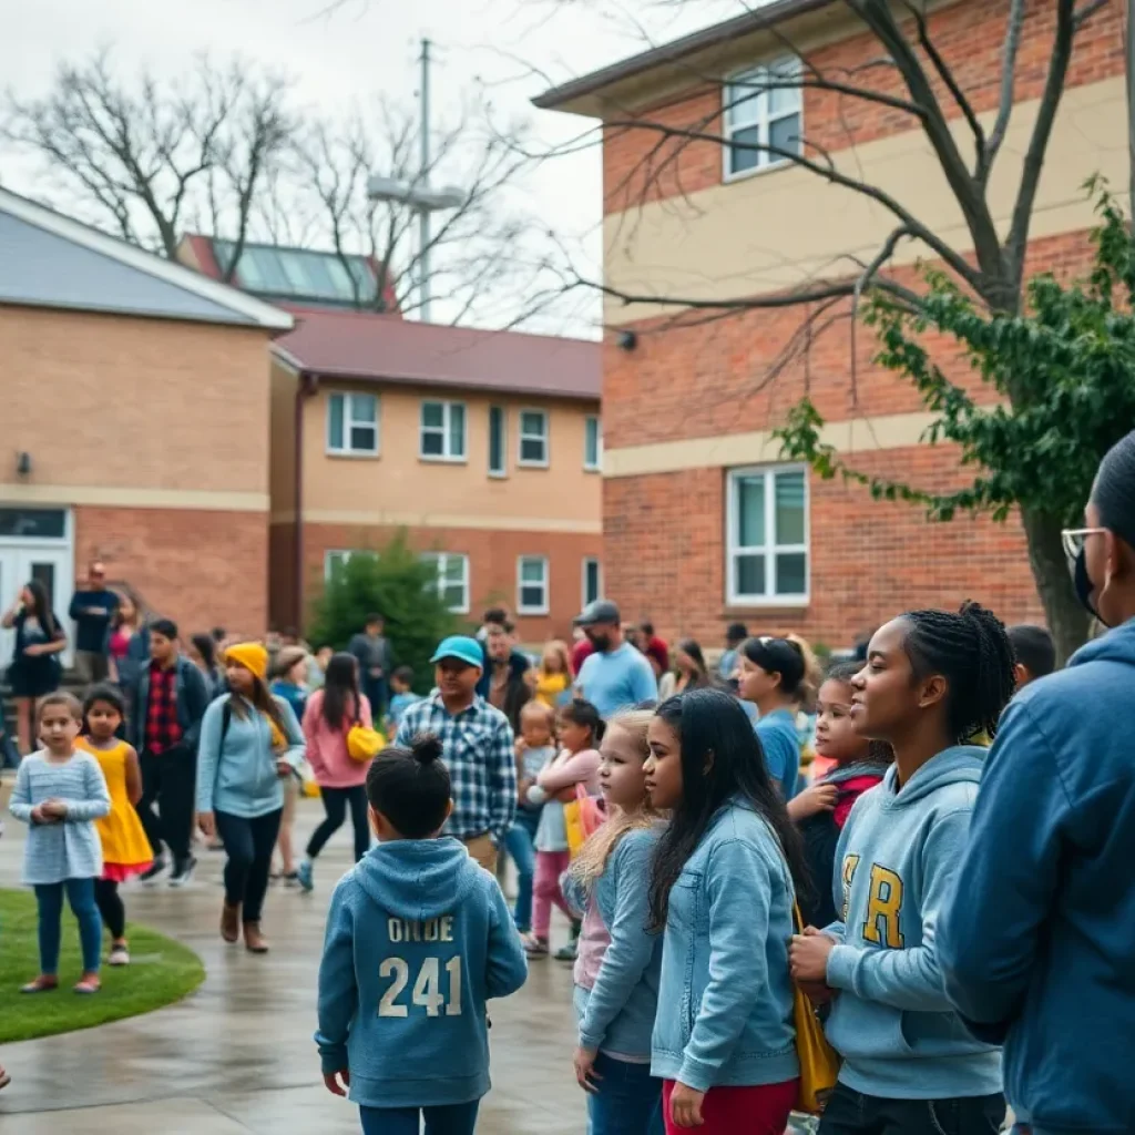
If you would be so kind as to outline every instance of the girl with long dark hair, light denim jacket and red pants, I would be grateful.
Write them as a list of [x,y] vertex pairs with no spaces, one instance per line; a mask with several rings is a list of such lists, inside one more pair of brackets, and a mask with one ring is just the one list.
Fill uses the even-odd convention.
[[728,693],[670,698],[648,740],[650,802],[673,809],[650,878],[650,925],[665,931],[651,1071],[666,1132],[779,1135],[799,1078],[788,960],[799,836]]

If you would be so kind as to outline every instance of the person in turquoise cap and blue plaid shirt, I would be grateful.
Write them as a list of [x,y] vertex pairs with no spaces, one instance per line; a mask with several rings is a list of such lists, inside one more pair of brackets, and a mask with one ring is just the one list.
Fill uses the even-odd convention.
[[481,645],[454,634],[430,659],[437,692],[409,706],[395,745],[410,748],[420,733],[440,738],[453,780],[453,813],[445,826],[487,871],[516,812],[516,758],[508,718],[477,692]]

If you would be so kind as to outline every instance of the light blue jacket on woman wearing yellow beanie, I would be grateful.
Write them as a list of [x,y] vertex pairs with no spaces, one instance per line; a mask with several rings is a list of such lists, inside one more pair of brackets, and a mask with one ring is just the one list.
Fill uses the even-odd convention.
[[[274,696],[275,697],[275,696]],[[276,762],[300,767],[306,745],[300,723],[284,698],[276,697],[287,748],[272,750],[271,726],[264,714],[245,701],[244,716],[229,706],[230,695],[217,698],[205,711],[197,746],[197,812],[230,816],[266,816],[284,807],[284,784]],[[225,728],[228,708],[228,728]]]

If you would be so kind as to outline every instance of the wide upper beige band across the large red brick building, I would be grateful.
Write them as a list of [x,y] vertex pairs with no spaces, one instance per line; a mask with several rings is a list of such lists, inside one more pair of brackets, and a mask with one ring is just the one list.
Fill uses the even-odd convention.
[[[1014,109],[990,185],[990,203],[1004,230],[1037,102]],[[982,116],[986,126],[993,116]],[[807,128],[807,124],[805,124]],[[968,127],[953,132],[962,152]],[[1088,228],[1092,205],[1085,179],[1093,173],[1113,186],[1127,182],[1127,116],[1121,77],[1066,92],[1053,127],[1033,216],[1033,239]],[[972,149],[972,145],[970,145]],[[966,252],[972,247],[957,202],[920,131],[836,152],[836,167],[902,202],[925,225]],[[687,197],[671,197],[604,222],[606,283],[634,295],[721,300],[798,286],[816,276],[854,275],[897,227],[894,216],[854,191],[832,186],[796,167],[758,173]],[[915,242],[900,245],[896,263],[930,255]],[[841,259],[843,258],[843,259]],[[608,325],[627,323],[675,304],[607,300]]]

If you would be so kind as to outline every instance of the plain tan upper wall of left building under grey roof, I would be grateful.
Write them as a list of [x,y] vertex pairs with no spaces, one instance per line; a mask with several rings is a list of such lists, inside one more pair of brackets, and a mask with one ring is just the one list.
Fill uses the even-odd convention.
[[268,335],[0,306],[9,503],[268,510]]

